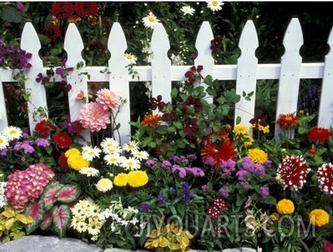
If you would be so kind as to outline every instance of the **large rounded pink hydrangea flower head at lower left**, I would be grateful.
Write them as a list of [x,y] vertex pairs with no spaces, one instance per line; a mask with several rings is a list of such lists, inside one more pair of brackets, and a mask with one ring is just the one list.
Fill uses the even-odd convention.
[[54,178],[54,172],[45,164],[31,164],[26,170],[16,170],[8,176],[4,194],[15,209],[22,209],[29,200],[40,198],[44,187]]

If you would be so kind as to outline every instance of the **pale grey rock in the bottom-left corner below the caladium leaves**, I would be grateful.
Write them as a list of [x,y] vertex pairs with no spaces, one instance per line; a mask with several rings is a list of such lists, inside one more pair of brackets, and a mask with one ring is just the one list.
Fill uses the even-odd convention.
[[1,252],[101,252],[95,244],[57,236],[29,235],[0,245]]

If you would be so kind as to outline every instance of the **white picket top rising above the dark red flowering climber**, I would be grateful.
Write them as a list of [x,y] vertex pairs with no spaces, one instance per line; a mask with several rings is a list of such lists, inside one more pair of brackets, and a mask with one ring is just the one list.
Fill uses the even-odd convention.
[[[211,40],[214,39],[213,31],[209,22],[204,21],[200,26],[200,30],[197,33],[197,40],[195,40],[195,48],[197,49],[197,58],[195,58],[194,64],[202,65],[203,70],[201,72],[203,77],[211,75],[214,79],[214,58],[211,56]],[[213,97],[206,97],[207,102],[212,103]]]

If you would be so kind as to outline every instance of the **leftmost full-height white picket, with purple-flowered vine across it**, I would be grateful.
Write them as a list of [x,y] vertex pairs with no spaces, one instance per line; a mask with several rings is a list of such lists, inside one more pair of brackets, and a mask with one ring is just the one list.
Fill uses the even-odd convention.
[[47,113],[44,113],[43,115],[33,113],[40,107],[43,109],[47,108],[45,88],[42,84],[35,80],[38,73],[43,72],[43,63],[38,54],[40,48],[40,40],[35,31],[35,28],[31,23],[26,23],[22,31],[21,49],[33,54],[29,61],[33,67],[26,71],[27,79],[25,81],[26,90],[31,91],[31,102],[28,103],[29,127],[31,133],[33,132],[33,129],[35,129],[35,124],[38,122],[38,120],[43,117],[47,117]]

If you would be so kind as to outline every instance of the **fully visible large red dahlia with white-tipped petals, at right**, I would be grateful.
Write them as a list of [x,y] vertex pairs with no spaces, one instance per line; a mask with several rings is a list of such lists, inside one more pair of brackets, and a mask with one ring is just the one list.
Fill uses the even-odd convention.
[[292,187],[296,191],[303,187],[307,182],[306,177],[311,169],[307,168],[303,157],[286,157],[282,160],[277,168],[277,175],[280,176],[284,183],[284,189]]

